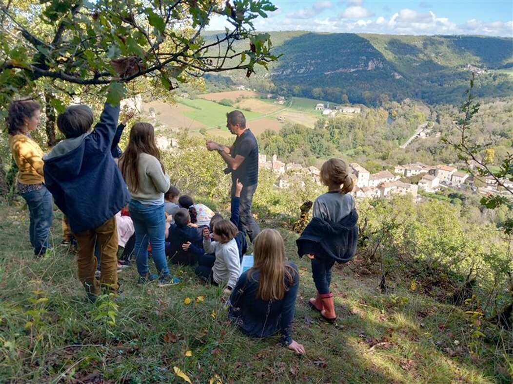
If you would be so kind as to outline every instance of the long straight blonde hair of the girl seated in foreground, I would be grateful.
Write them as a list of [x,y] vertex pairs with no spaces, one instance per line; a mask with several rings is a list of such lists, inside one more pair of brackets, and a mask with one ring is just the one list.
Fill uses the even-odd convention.
[[257,298],[264,301],[281,300],[292,283],[294,270],[285,264],[285,243],[275,229],[264,229],[254,241],[253,267],[248,279],[259,270]]

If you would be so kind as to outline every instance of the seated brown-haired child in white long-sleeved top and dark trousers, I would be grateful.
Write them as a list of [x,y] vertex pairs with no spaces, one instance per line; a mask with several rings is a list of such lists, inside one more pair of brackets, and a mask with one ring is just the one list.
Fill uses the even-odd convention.
[[225,292],[230,292],[235,287],[241,270],[239,249],[234,239],[237,232],[237,227],[231,221],[220,220],[214,224],[214,241],[211,241],[210,231],[203,228],[205,252],[215,253],[215,257],[211,254],[200,257],[196,274],[213,285],[226,284]]

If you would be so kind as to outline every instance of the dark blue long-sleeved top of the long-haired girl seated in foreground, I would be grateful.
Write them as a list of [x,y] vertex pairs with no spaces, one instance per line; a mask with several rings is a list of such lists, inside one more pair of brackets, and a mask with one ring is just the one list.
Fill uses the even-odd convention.
[[242,332],[253,337],[266,337],[281,332],[282,343],[292,343],[292,320],[294,318],[295,297],[298,294],[298,267],[291,262],[286,266],[292,272],[292,281],[286,281],[287,291],[282,300],[269,302],[257,298],[260,271],[255,270],[248,279],[244,272],[230,295],[228,316]]

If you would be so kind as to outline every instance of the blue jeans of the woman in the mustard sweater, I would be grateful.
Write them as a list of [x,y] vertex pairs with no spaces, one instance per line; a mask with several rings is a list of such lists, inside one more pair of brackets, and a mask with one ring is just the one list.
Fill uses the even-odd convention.
[[20,194],[27,202],[30,213],[29,237],[34,254],[44,254],[50,244],[50,227],[53,219],[52,194],[43,185],[41,189]]

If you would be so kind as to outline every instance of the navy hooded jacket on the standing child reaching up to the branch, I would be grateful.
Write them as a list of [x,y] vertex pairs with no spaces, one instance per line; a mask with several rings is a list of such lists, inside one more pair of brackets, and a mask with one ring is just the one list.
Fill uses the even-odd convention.
[[46,186],[73,232],[102,225],[130,201],[111,155],[119,113],[105,104],[93,132],[59,142],[43,158]]

